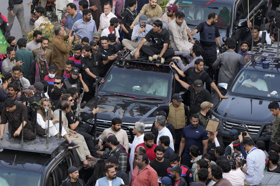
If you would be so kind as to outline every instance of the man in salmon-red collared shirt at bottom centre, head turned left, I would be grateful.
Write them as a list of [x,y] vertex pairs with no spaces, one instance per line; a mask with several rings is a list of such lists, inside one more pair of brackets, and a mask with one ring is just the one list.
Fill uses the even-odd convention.
[[129,186],[158,186],[157,172],[148,164],[148,156],[140,153],[136,159],[136,167],[132,171]]

